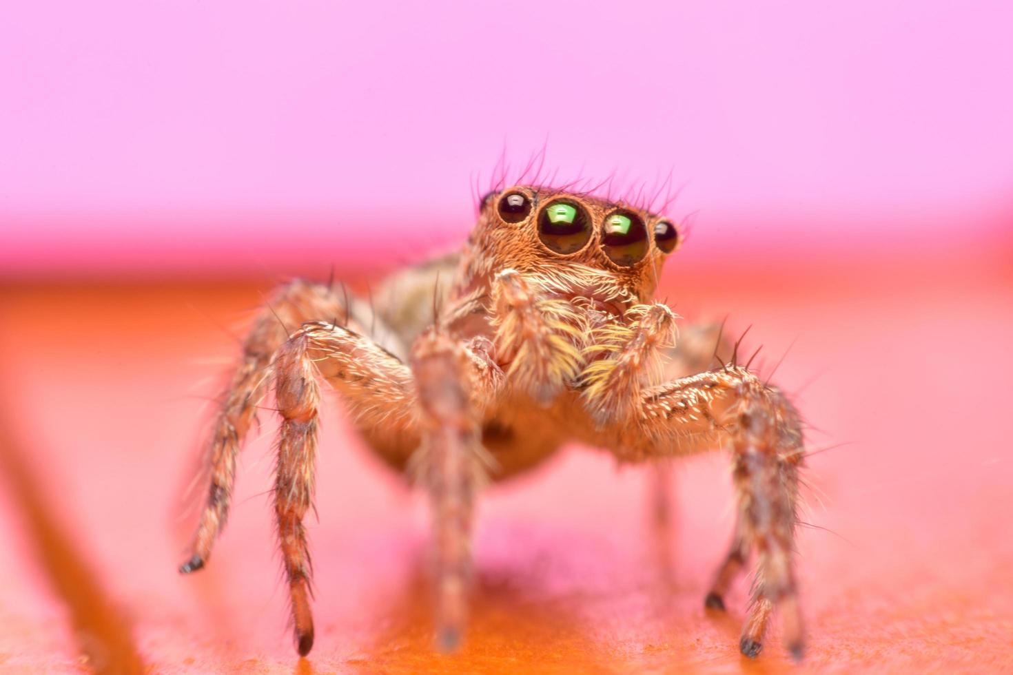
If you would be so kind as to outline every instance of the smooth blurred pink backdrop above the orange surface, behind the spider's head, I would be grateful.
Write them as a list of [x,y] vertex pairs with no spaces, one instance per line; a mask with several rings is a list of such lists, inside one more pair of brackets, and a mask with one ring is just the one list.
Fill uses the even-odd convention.
[[[0,269],[275,271],[459,241],[473,184],[671,172],[694,246],[975,246],[1013,3],[9,3]],[[911,250],[911,249],[909,249]]]

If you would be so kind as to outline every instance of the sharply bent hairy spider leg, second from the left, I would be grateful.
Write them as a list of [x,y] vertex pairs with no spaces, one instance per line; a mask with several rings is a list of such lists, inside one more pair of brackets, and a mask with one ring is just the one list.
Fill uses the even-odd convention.
[[407,366],[372,340],[326,322],[304,324],[278,351],[274,364],[279,431],[275,483],[278,536],[292,597],[296,643],[313,646],[310,558],[303,517],[313,497],[322,375],[344,399],[361,426],[383,425],[417,443],[415,397]]

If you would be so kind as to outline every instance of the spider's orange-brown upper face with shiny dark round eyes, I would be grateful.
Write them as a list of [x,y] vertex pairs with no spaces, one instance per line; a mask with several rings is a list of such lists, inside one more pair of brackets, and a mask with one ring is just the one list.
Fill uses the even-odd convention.
[[492,271],[608,277],[646,298],[682,233],[672,221],[629,204],[517,185],[485,196],[472,242]]

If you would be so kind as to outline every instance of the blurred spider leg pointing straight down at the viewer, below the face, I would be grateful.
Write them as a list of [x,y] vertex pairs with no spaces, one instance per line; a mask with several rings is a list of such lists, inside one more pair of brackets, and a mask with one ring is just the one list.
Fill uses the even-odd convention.
[[454,340],[431,329],[415,342],[411,369],[420,411],[421,478],[430,492],[436,563],[437,646],[458,648],[467,615],[471,522],[491,458],[481,445],[481,415],[502,372],[491,344]]

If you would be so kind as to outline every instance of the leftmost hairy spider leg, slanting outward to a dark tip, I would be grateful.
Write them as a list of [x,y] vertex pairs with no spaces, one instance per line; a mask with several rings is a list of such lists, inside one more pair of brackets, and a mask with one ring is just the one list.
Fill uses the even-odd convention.
[[240,447],[256,418],[267,388],[268,366],[275,352],[295,330],[310,319],[345,317],[343,299],[328,287],[293,281],[282,286],[260,312],[243,342],[242,356],[222,394],[208,449],[209,489],[190,558],[183,574],[204,567],[229,515]]

